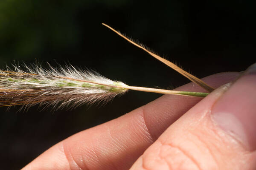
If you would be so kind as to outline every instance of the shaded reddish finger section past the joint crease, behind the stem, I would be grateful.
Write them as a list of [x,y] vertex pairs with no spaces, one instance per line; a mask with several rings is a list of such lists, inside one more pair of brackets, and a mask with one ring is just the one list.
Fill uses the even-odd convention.
[[[205,77],[202,80],[212,87],[218,88],[220,85],[233,81],[239,75],[237,72],[228,72]],[[175,90],[207,92],[194,83],[183,85]],[[167,127],[201,101],[201,99],[198,97],[164,95],[143,106],[145,125],[152,138],[156,140]]]

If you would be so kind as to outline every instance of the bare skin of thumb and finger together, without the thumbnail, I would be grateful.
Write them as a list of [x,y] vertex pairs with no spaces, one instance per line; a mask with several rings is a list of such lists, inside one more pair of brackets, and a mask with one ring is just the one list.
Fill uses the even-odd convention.
[[[228,72],[202,80],[218,88],[239,75]],[[241,79],[240,84],[250,79]],[[193,83],[176,90],[205,92]],[[70,136],[22,170],[255,169],[253,147],[227,133],[212,118],[211,110],[225,91],[217,89],[204,99],[163,95],[117,119]],[[255,101],[256,91],[248,95],[246,100]]]

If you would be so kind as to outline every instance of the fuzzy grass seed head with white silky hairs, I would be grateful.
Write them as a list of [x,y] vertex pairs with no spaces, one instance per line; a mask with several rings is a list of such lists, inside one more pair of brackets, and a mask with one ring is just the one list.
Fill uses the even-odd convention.
[[128,89],[122,82],[112,81],[96,72],[81,71],[73,66],[42,69],[40,65],[25,66],[25,71],[14,66],[0,70],[0,106],[33,105],[76,108],[84,103],[108,102]]

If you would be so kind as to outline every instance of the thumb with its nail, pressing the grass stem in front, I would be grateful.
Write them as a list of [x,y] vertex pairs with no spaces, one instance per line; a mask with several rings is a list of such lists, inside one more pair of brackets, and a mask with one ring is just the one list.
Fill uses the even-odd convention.
[[254,170],[255,150],[256,64],[180,117],[131,169]]

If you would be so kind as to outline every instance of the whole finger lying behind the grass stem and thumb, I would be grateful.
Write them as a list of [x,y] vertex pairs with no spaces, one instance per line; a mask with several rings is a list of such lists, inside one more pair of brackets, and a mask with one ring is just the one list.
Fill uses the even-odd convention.
[[[235,79],[238,73],[204,78],[213,87]],[[204,91],[189,83],[183,91]],[[118,119],[84,130],[47,150],[24,168],[33,170],[128,169],[166,128],[200,98],[164,95]],[[47,162],[47,164],[45,164]]]

